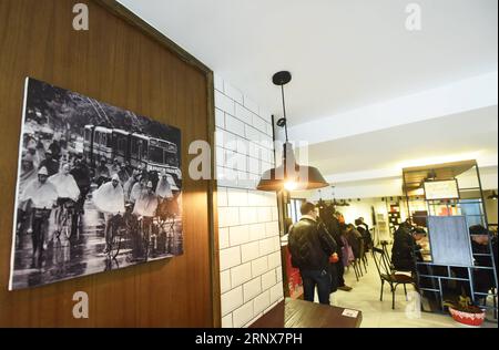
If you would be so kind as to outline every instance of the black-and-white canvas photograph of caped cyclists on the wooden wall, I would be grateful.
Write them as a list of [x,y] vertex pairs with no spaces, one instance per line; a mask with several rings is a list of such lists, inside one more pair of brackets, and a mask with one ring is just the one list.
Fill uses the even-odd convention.
[[181,131],[26,81],[9,289],[183,254]]

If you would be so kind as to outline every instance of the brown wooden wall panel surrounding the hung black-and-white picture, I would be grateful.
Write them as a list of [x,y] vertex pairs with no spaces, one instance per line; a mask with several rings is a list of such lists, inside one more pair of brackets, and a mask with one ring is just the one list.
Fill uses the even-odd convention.
[[[72,28],[77,2],[89,6],[89,31]],[[189,143],[213,141],[212,73],[189,55],[181,58],[177,48],[166,49],[167,40],[165,47],[131,24],[130,17],[110,9],[123,12],[106,0],[0,1],[0,327],[220,323],[213,183],[187,176]],[[26,76],[181,128],[183,256],[8,291]],[[72,317],[78,290],[89,295],[89,319]]]

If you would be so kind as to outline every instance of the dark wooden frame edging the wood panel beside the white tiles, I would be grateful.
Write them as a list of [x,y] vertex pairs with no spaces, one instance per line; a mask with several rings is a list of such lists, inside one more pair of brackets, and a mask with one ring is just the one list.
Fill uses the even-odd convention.
[[187,51],[179,47],[172,40],[163,35],[160,31],[151,27],[139,16],[126,9],[115,0],[92,0],[109,12],[131,24],[146,37],[153,39],[165,50],[174,53],[183,62],[192,65],[203,73],[206,78],[206,105],[207,105],[207,142],[211,148],[211,178],[207,183],[207,212],[208,212],[208,235],[210,235],[210,271],[211,271],[211,295],[212,295],[212,325],[220,328],[222,325],[221,315],[221,289],[220,289],[220,259],[218,259],[218,212],[216,203],[216,181],[214,159],[215,150],[215,101],[214,101],[214,80],[213,71],[203,62],[194,58]]

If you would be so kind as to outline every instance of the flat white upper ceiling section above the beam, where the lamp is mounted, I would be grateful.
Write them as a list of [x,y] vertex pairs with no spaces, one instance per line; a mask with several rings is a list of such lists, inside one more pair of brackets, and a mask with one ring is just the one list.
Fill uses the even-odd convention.
[[497,0],[120,0],[291,124],[497,71]]

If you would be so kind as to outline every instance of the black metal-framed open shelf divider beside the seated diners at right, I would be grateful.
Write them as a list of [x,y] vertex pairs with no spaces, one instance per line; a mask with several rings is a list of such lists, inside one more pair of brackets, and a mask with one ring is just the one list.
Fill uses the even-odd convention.
[[[456,181],[458,197],[427,199],[425,183]],[[469,183],[472,183],[470,185]],[[481,188],[480,173],[476,161],[448,163],[432,166],[421,166],[404,169],[404,193],[406,196],[408,217],[413,223],[427,224],[428,217],[460,216],[466,219],[467,227],[482,225],[488,229],[487,212]],[[421,225],[428,226],[428,225]],[[441,235],[442,231],[428,231],[429,240],[432,235]],[[471,249],[471,237],[469,234],[469,247]],[[435,237],[437,238],[437,237]],[[483,297],[492,297],[492,305],[480,305],[487,309],[493,309],[497,319],[497,267],[493,259],[493,251],[489,234],[487,253],[476,253],[471,250],[472,260],[477,258],[488,258],[489,266],[478,266],[476,262],[466,265],[442,265],[436,264],[434,253],[430,247],[429,255],[425,261],[415,261],[417,268],[417,281],[420,291],[425,296],[430,296],[429,301],[435,302],[431,311],[445,311],[444,301],[452,296],[459,286],[469,294],[473,302]],[[493,288],[488,292],[477,290],[476,272],[479,270],[490,270],[493,275]],[[432,297],[432,298],[431,298]],[[486,299],[487,300],[487,299]]]

